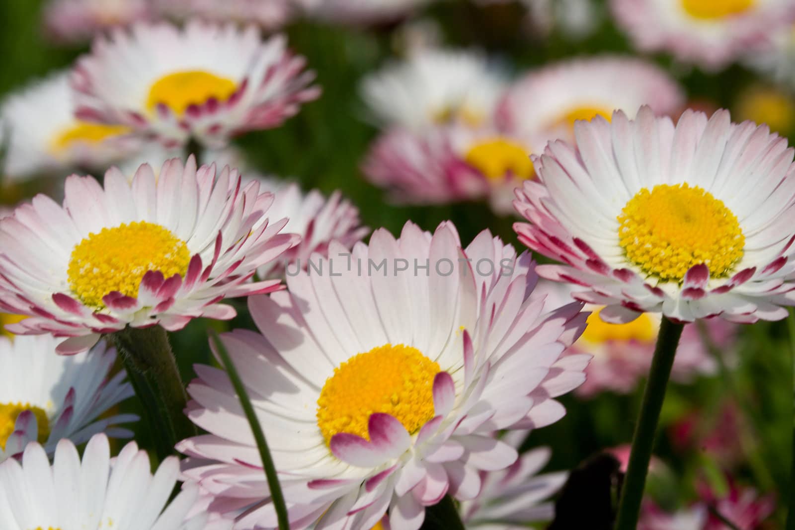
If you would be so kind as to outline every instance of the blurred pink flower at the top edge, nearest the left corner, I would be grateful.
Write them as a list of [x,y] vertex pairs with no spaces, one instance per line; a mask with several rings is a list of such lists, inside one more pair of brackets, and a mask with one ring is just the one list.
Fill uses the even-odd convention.
[[153,17],[149,0],[50,0],[45,36],[57,41],[91,41],[97,33]]

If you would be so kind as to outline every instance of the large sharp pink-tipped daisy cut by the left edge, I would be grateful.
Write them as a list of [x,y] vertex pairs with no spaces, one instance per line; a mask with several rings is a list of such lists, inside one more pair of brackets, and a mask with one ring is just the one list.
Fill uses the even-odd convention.
[[69,176],[62,207],[37,195],[0,219],[0,307],[31,315],[10,331],[68,337],[58,351],[71,354],[128,325],[231,319],[223,298],[279,288],[249,280],[298,237],[266,220],[273,195],[242,187],[237,170],[197,171],[190,157],[157,179],[148,164],[132,180],[111,168],[104,183]]

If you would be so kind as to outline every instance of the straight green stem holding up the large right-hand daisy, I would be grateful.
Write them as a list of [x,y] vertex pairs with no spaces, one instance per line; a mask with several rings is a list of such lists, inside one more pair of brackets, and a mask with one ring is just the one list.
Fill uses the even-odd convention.
[[643,499],[643,488],[646,486],[646,473],[651,461],[654,435],[657,431],[657,422],[660,420],[665,387],[671,376],[673,358],[677,353],[683,328],[684,324],[676,324],[666,318],[662,319],[660,333],[657,335],[657,346],[654,348],[649,380],[646,382],[646,391],[643,393],[641,413],[632,438],[630,463],[622,486],[615,530],[635,530],[638,525],[638,515]]

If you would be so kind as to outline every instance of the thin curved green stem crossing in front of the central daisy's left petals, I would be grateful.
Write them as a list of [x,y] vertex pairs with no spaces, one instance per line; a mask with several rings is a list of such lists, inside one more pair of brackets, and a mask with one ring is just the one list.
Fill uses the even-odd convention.
[[229,379],[232,382],[232,386],[235,387],[235,393],[238,394],[240,406],[242,407],[243,412],[246,413],[246,420],[248,420],[251,427],[251,432],[254,434],[254,441],[257,442],[259,458],[262,459],[262,467],[265,469],[265,477],[268,480],[268,488],[270,489],[270,498],[273,501],[273,509],[276,510],[276,516],[279,522],[279,530],[289,530],[290,524],[287,517],[285,497],[281,493],[281,486],[279,485],[276,466],[273,465],[273,458],[270,456],[268,443],[265,439],[265,433],[262,431],[262,425],[259,423],[257,413],[254,412],[254,406],[251,404],[248,393],[246,393],[246,387],[243,385],[243,381],[240,379],[238,370],[235,368],[235,363],[232,362],[232,359],[229,357],[229,352],[227,352],[226,346],[223,346],[223,342],[221,342],[221,339],[219,339],[218,334],[215,333],[215,330],[210,330],[210,336],[212,338],[212,342],[215,344],[215,350],[217,350],[219,357],[221,358],[221,362],[223,362],[223,367],[227,369],[227,374],[229,375]]

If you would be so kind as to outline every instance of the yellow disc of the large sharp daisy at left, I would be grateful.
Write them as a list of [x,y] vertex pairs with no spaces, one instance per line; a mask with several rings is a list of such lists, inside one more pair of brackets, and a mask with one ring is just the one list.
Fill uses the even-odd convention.
[[69,259],[69,287],[83,304],[101,308],[103,296],[112,291],[138,297],[138,285],[150,270],[159,270],[166,278],[184,277],[190,258],[188,246],[164,226],[123,223],[88,234],[75,246]]

